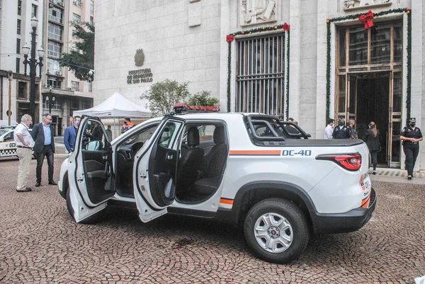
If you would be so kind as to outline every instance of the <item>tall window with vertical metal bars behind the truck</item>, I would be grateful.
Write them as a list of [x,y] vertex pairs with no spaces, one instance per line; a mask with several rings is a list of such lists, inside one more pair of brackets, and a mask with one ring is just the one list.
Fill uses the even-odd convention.
[[285,34],[237,40],[236,112],[283,115]]

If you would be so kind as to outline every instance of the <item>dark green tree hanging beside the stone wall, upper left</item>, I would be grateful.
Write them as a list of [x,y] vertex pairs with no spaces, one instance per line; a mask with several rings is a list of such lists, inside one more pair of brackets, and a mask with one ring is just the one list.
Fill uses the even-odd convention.
[[69,67],[81,81],[93,81],[94,69],[94,25],[89,22],[73,21],[72,35],[77,38],[73,43],[75,49],[63,53],[60,66]]

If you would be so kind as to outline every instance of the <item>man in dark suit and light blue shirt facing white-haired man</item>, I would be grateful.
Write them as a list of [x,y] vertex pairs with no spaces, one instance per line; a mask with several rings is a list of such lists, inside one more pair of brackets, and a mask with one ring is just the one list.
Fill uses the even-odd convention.
[[37,182],[35,186],[38,187],[41,185],[41,169],[44,157],[47,157],[48,173],[49,173],[49,184],[57,185],[53,181],[53,154],[55,153],[55,138],[53,134],[55,133],[50,122],[52,121],[52,115],[46,113],[42,115],[42,123],[34,125],[31,136],[35,141],[33,150],[34,154],[37,157],[37,168],[35,169],[35,174],[37,176]]

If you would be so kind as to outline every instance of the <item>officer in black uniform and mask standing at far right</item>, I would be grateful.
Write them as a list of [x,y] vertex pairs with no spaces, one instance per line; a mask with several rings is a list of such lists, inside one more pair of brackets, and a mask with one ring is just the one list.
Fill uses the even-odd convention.
[[414,163],[419,154],[419,142],[424,138],[419,127],[416,127],[416,118],[409,118],[408,125],[402,129],[400,139],[403,141],[403,152],[406,155],[407,179],[412,179]]

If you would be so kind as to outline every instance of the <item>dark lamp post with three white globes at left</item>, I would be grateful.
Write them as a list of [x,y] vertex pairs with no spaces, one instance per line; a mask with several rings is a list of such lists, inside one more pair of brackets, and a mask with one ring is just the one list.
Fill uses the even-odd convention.
[[[25,72],[27,73],[27,64],[30,64],[30,115],[35,119],[35,73],[37,68],[37,65],[40,67],[40,78],[41,78],[41,67],[42,67],[42,57],[44,57],[44,50],[42,50],[42,47],[38,50],[38,58],[39,60],[35,59],[35,48],[37,45],[37,42],[35,41],[35,36],[37,35],[37,25],[38,20],[37,18],[33,17],[31,18],[31,26],[33,27],[33,32],[31,34],[31,48],[27,45],[24,45],[22,47],[23,57],[25,58],[23,60],[23,64],[25,65]],[[31,58],[28,59],[28,54],[31,50]]]

